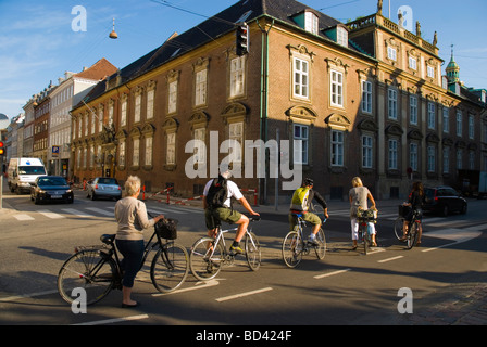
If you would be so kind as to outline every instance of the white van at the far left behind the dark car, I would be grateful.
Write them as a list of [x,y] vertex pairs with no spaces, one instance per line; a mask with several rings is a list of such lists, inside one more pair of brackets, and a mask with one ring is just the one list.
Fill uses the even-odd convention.
[[17,194],[30,193],[30,185],[36,178],[46,174],[46,167],[39,158],[11,158],[7,171],[10,191]]

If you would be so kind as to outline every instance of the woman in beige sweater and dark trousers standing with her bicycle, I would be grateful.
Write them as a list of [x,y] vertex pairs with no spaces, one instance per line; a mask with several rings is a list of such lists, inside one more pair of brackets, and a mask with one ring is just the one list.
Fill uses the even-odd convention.
[[147,217],[146,204],[137,197],[140,194],[140,179],[137,176],[128,177],[125,182],[126,197],[120,200],[115,205],[116,247],[124,256],[122,259],[122,307],[137,307],[140,303],[132,299],[132,290],[137,272],[140,270],[143,258],[143,229],[153,227],[164,218],[160,215],[152,219]]

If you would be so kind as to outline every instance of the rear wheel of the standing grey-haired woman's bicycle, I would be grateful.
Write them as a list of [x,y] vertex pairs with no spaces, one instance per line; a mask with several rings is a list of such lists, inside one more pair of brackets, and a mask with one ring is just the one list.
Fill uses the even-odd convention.
[[71,256],[58,274],[58,291],[72,304],[74,288],[86,291],[86,305],[95,304],[107,296],[115,285],[116,265],[112,258],[103,259],[99,249],[82,250]]

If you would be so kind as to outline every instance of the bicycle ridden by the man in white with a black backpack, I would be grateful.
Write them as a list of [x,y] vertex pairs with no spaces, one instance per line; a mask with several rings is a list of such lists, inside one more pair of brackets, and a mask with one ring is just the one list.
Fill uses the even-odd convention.
[[[251,222],[260,220],[258,216],[249,217]],[[237,254],[226,250],[224,234],[237,231],[238,228],[222,230],[222,224],[216,223],[216,236],[203,236],[191,247],[189,254],[189,267],[192,274],[200,281],[214,279],[222,267],[234,264]],[[252,271],[261,266],[261,246],[252,229],[249,227],[245,234],[245,255],[247,264]]]

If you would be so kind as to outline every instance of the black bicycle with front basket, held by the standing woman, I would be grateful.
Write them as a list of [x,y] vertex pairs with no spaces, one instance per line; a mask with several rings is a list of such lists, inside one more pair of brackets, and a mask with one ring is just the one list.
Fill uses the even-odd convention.
[[[149,216],[153,218],[150,214]],[[163,219],[155,223],[140,265],[141,269],[149,253],[158,249],[150,267],[150,277],[152,284],[161,293],[178,288],[189,272],[188,252],[174,242],[177,239],[176,224],[177,220],[174,219]],[[60,269],[58,291],[68,304],[74,301],[71,296],[74,288],[86,291],[86,305],[101,300],[114,288],[122,290],[123,270],[114,243],[115,234],[103,234],[100,241],[101,245],[76,247],[75,254]]]

